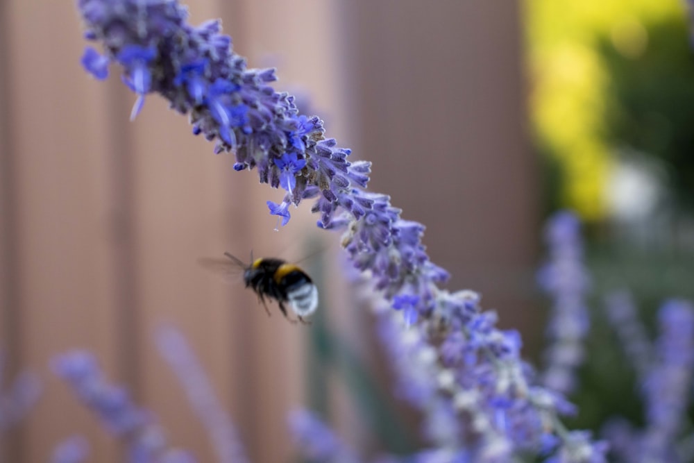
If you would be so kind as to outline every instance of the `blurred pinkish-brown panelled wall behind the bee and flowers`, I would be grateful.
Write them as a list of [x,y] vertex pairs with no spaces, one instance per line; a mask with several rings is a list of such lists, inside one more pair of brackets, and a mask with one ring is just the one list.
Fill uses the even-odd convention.
[[[189,7],[193,23],[222,17],[251,67],[277,66],[280,90],[307,96],[328,136],[373,161],[371,189],[428,226],[424,242],[451,271],[451,289],[477,289],[486,307],[500,309],[502,326],[535,331],[537,172],[516,3]],[[330,389],[323,393],[338,427],[366,439],[344,382],[316,370],[314,328],[291,326],[277,310],[266,317],[241,284],[223,285],[196,264],[223,251],[246,258],[250,249],[301,258],[337,235],[316,230],[308,205],[274,232],[265,201],[280,192],[233,171],[229,155],[213,155],[157,96],[131,124],[135,97],[119,69],[94,81],[79,65],[84,45],[72,2],[0,3],[3,376],[7,383],[28,369],[43,385],[37,405],[4,433],[2,461],[46,461],[75,433],[90,441],[90,461],[119,461],[115,441],[50,371],[51,358],[72,348],[96,353],[108,377],[159,416],[171,442],[213,461],[155,351],[153,330],[164,322],[192,344],[253,461],[290,460],[285,415],[310,403],[316,381]],[[339,270],[332,255],[319,260]],[[346,303],[339,271],[321,277],[320,326],[366,358],[371,320]]]

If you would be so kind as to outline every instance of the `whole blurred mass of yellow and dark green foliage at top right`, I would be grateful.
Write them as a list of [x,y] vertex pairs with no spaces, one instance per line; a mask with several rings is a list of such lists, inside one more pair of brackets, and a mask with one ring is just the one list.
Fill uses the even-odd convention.
[[525,24],[536,144],[554,169],[550,205],[604,219],[613,155],[666,162],[694,205],[694,58],[679,0],[529,0]]

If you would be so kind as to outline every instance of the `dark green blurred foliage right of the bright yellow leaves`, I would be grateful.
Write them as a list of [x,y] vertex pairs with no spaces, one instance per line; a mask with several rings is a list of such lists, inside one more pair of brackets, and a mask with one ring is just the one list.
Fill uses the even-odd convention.
[[653,155],[668,169],[678,205],[694,210],[694,51],[683,15],[648,24],[634,55],[605,37],[598,50],[610,76],[605,135]]

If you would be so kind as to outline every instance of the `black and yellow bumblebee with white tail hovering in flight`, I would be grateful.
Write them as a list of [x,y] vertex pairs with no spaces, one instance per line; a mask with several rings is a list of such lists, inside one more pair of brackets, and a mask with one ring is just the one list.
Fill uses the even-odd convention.
[[246,264],[231,253],[224,253],[224,255],[229,260],[201,259],[200,262],[213,271],[223,273],[228,273],[234,267],[242,269],[246,287],[253,289],[253,292],[257,294],[268,315],[270,311],[266,305],[266,298],[276,300],[282,315],[292,323],[296,323],[296,320],[289,317],[286,305],[289,305],[291,311],[296,314],[298,321],[304,324],[311,323],[304,317],[308,317],[318,308],[318,288],[305,271],[296,264],[290,264],[282,259],[253,260],[253,253],[251,253],[251,264]]

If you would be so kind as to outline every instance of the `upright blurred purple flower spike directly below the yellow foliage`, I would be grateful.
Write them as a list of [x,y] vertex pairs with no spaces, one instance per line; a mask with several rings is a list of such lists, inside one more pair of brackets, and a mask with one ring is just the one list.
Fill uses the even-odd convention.
[[589,276],[584,268],[580,224],[575,214],[562,211],[545,226],[550,259],[538,273],[541,287],[552,297],[548,324],[550,346],[545,351],[545,386],[563,394],[576,387],[575,370],[584,358],[583,338],[589,330],[586,292]]

